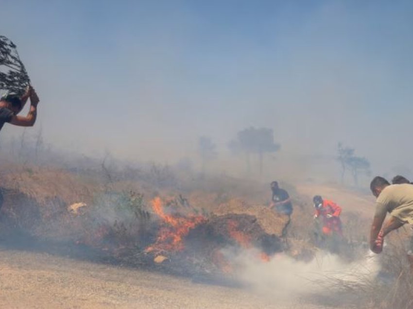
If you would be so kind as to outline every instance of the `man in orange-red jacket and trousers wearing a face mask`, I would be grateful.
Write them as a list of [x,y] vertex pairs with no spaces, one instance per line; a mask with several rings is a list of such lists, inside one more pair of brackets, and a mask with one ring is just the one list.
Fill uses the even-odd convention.
[[340,220],[341,207],[332,201],[323,200],[320,195],[314,196],[312,200],[315,208],[314,219],[323,218],[323,234],[331,235],[336,233],[343,236]]

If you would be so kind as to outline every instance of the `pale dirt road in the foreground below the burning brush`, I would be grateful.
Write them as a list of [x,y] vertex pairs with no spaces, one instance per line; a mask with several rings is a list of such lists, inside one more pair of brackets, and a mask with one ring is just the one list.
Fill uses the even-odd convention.
[[[137,269],[0,250],[0,308],[302,308],[240,288]],[[305,306],[305,308],[316,308]]]

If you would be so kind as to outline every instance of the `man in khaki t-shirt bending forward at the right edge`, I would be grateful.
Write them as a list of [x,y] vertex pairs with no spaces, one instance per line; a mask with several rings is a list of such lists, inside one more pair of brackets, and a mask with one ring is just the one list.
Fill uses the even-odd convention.
[[[383,177],[376,176],[370,189],[377,197],[376,213],[370,232],[370,249],[380,253],[387,234],[406,223],[413,224],[413,186],[390,185]],[[390,219],[383,226],[387,213],[390,213]],[[413,250],[413,247],[410,249]]]

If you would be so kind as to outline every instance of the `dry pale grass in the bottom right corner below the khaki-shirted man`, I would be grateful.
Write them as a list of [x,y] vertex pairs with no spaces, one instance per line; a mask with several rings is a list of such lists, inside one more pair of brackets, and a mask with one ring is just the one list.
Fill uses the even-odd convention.
[[362,309],[412,309],[413,277],[403,240],[395,240],[398,237],[393,237],[385,248],[378,275],[359,270],[350,274],[327,274],[317,280],[317,284],[330,291],[323,298],[324,304]]

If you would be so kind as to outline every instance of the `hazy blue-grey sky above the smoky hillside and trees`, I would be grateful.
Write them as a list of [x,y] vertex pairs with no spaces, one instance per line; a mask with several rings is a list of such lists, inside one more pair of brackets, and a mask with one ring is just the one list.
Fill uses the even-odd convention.
[[377,172],[413,168],[413,1],[2,0],[1,12],[41,98],[36,126],[59,147],[176,159],[200,135],[225,152],[266,126],[284,156],[333,156],[343,141]]

